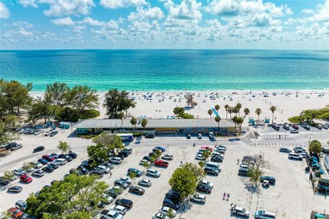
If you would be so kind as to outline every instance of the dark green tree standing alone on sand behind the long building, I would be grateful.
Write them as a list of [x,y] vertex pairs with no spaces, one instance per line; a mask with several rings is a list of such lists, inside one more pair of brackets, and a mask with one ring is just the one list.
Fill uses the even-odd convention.
[[117,89],[108,90],[105,94],[103,107],[106,107],[106,114],[110,118],[118,118],[120,112],[126,112],[130,107],[134,108],[136,103],[132,99],[128,99],[128,92]]

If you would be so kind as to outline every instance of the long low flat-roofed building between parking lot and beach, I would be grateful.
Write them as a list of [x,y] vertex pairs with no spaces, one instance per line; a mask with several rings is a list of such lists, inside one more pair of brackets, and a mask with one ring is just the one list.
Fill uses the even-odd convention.
[[[141,120],[138,120],[136,127],[130,124],[130,119],[85,119],[79,120],[73,128],[76,128],[78,135],[88,133],[234,133],[235,125],[231,119],[222,118],[220,123],[214,119],[149,119],[147,126],[141,126]],[[239,131],[236,130],[236,131]]]

